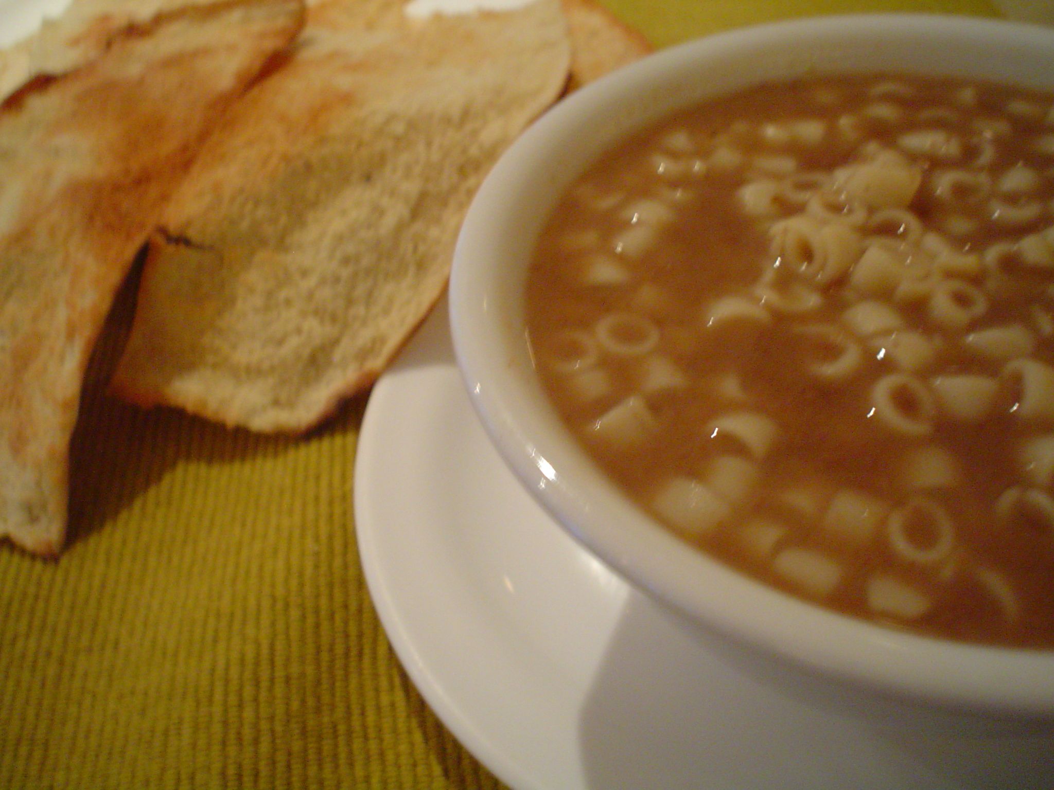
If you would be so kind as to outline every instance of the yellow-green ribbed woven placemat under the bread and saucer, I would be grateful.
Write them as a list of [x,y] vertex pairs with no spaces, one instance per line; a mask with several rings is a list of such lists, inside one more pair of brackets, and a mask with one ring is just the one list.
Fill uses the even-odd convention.
[[[609,0],[657,44],[836,11],[988,2]],[[74,440],[70,547],[0,547],[0,788],[490,788],[395,660],[359,568],[365,397],[300,439],[108,398]],[[8,372],[8,375],[11,373]]]

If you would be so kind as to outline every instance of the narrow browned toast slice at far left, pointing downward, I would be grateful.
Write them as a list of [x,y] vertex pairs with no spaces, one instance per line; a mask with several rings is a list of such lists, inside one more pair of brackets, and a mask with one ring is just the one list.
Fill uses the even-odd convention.
[[62,546],[70,438],[111,302],[210,124],[302,17],[299,0],[162,15],[0,104],[0,537]]

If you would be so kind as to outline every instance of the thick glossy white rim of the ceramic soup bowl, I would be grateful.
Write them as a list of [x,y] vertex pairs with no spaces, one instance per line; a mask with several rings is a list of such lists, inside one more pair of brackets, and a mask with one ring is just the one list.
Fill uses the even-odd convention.
[[616,141],[679,107],[817,74],[959,75],[1051,88],[1052,65],[1054,31],[1047,28],[922,15],[828,17],[683,44],[562,101],[494,167],[454,256],[458,366],[503,458],[593,554],[755,656],[809,670],[876,705],[1054,719],[1054,651],[970,646],[868,625],[754,581],[658,526],[580,450],[550,407],[524,340],[523,294],[538,235],[570,182]]

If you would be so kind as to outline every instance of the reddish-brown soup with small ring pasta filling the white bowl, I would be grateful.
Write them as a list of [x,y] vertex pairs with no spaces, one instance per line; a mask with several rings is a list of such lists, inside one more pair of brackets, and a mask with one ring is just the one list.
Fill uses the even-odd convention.
[[527,324],[570,430],[761,580],[1054,648],[1054,99],[907,76],[762,86],[605,154]]

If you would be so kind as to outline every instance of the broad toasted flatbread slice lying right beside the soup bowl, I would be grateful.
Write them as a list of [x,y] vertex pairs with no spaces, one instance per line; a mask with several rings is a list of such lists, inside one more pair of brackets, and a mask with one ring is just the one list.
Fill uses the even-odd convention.
[[440,297],[473,193],[569,59],[557,0],[425,20],[394,0],[311,7],[168,206],[113,390],[255,431],[316,426]]

